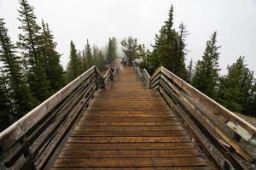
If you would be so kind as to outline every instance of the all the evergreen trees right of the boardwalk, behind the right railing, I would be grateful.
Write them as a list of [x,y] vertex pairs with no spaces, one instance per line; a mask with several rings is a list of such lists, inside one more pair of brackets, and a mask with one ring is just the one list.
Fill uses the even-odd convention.
[[227,66],[227,75],[220,76],[218,65],[220,46],[217,44],[217,35],[217,31],[212,33],[202,59],[198,60],[195,66],[190,59],[189,65],[186,66],[185,39],[189,36],[189,32],[183,23],[178,26],[177,31],[175,30],[173,7],[171,7],[164,26],[160,28],[159,34],[155,35],[152,52],[139,48],[142,46],[137,45],[136,38],[128,37],[121,44],[125,55],[130,59],[129,63],[143,54],[140,67],[146,68],[149,74],[162,65],[230,111],[256,116],[256,80],[253,71],[247,68],[245,57],[240,56],[234,64]]

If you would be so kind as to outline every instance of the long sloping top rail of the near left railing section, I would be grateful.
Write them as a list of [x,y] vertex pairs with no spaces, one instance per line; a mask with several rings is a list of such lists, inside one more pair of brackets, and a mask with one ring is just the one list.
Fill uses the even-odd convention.
[[95,72],[95,66],[85,71],[81,76],[77,77],[57,93],[46,99],[42,104],[38,105],[25,116],[13,123],[0,133],[0,146],[3,150],[8,150],[15,142],[20,139],[28,130],[30,130],[37,122],[51,111],[55,105],[58,105],[62,99],[66,98],[74,88],[77,88],[81,82]]

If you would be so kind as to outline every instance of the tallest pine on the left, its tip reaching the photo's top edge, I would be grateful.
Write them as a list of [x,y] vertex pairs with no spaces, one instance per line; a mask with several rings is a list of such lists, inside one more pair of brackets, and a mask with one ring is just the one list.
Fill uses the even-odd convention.
[[40,49],[40,27],[36,22],[33,7],[26,0],[20,0],[21,22],[18,47],[22,50],[23,60],[27,68],[26,77],[32,94],[41,102],[49,97],[49,81],[44,70],[44,56]]

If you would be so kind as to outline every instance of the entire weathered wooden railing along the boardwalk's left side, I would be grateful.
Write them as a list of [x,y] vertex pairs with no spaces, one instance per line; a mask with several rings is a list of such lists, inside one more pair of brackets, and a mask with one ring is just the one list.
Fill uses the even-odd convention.
[[43,169],[84,111],[97,89],[108,89],[119,66],[102,76],[92,66],[42,104],[0,133],[5,167]]

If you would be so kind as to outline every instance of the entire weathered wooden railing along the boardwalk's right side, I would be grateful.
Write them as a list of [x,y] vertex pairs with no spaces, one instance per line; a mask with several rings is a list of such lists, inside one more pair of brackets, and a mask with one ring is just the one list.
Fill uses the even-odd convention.
[[[142,80],[147,85],[148,72],[146,70],[141,72],[136,64],[134,66],[138,77],[146,77],[146,80],[144,78]],[[211,139],[214,146],[227,159],[222,168],[228,169],[229,163],[236,169],[245,168],[241,165],[239,156],[249,163],[255,163],[252,150],[245,147],[247,144],[253,147],[256,145],[256,128],[251,124],[162,66],[149,77],[149,88],[158,89],[178,115],[184,119],[182,112],[187,113],[189,119],[195,122],[207,139]],[[187,124],[190,126],[189,122]],[[191,128],[190,130],[195,130]],[[209,150],[205,141],[201,143],[204,144],[203,148]]]

